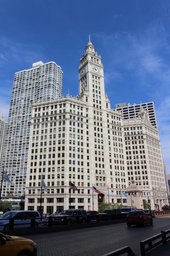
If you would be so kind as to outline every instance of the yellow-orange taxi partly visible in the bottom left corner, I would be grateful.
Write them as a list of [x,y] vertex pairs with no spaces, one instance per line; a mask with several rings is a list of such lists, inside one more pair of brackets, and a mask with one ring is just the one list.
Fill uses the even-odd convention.
[[0,255],[37,256],[37,246],[33,240],[0,233]]

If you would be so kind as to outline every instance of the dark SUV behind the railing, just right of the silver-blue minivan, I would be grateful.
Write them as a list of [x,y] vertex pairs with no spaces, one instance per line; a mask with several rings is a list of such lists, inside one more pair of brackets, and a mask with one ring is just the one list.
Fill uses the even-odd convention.
[[87,221],[87,213],[85,210],[64,210],[63,212],[61,212],[61,214],[53,216],[53,225],[63,224],[64,216],[67,216],[68,225],[76,223],[77,216],[79,216],[80,222],[85,223]]

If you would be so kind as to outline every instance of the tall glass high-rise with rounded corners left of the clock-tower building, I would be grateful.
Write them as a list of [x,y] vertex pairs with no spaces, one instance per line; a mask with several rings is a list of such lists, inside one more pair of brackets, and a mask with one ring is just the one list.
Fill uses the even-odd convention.
[[62,82],[61,67],[53,61],[15,73],[3,158],[11,183],[3,184],[2,196],[25,193],[32,104],[61,98]]

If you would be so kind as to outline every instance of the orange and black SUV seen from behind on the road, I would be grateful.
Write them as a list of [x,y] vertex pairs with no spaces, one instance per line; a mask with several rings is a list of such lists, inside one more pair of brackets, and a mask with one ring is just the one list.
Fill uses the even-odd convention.
[[153,220],[152,217],[143,210],[136,210],[128,213],[126,223],[128,227],[131,225],[141,225],[145,227],[147,224],[153,225]]

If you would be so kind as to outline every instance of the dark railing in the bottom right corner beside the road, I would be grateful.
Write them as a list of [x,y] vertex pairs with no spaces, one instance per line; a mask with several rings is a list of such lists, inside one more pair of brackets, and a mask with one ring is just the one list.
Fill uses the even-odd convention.
[[[169,234],[169,236],[167,236],[167,234]],[[148,253],[149,251],[151,251],[152,249],[154,249],[155,247],[161,244],[165,245],[167,240],[169,239],[170,239],[170,229],[166,231],[161,231],[161,233],[141,241],[140,242],[141,256],[145,256],[146,253]],[[148,245],[148,246],[145,247],[145,245]]]

